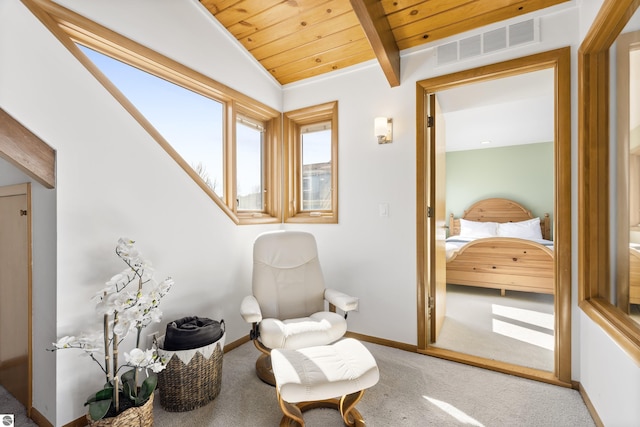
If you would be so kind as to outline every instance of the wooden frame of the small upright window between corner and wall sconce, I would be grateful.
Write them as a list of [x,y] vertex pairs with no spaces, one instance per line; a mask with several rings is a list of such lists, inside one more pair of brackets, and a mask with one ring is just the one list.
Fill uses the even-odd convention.
[[[331,122],[331,209],[305,211],[302,209],[301,128],[320,122]],[[338,101],[301,108],[284,113],[284,222],[338,223]]]

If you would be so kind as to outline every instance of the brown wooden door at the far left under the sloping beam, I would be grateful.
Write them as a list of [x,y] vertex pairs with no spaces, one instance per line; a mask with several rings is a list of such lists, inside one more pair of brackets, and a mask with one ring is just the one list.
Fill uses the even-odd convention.
[[30,184],[0,187],[0,385],[31,405]]

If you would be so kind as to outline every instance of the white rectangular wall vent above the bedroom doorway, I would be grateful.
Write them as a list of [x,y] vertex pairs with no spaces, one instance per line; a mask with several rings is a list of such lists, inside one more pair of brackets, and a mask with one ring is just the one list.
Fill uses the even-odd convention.
[[438,65],[538,41],[540,41],[538,22],[536,19],[528,19],[438,46]]

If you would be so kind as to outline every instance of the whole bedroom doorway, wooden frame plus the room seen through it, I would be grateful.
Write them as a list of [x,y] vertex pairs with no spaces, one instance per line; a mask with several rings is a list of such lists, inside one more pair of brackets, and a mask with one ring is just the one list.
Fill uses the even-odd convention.
[[[433,114],[429,107],[433,104],[430,101],[431,95],[434,95],[438,98],[446,123],[444,138],[438,136],[438,129],[426,126],[423,128],[418,123],[417,205],[425,206],[424,215],[419,213],[417,219],[420,352],[547,382],[570,383],[571,290],[568,284],[571,280],[570,256],[567,254],[570,254],[571,239],[569,227],[557,227],[558,224],[569,224],[570,221],[570,91],[569,86],[564,85],[569,80],[569,63],[569,49],[564,48],[418,82],[425,99],[422,101],[420,94],[418,95],[419,121],[424,120],[425,125],[433,122],[436,128],[440,123],[437,117],[426,123],[427,117]],[[546,80],[546,91],[536,90],[533,84],[523,83],[531,77]],[[517,92],[510,90],[511,81],[517,81],[515,87],[518,89],[531,92],[521,95],[520,99],[509,98]],[[491,91],[484,95],[469,92],[472,87],[477,90],[480,86],[476,85],[480,84],[491,87]],[[458,92],[454,95],[459,96],[447,100],[448,91]],[[535,99],[525,100],[527,96]],[[474,101],[473,105],[470,108],[464,107],[463,103],[469,105],[470,99]],[[542,119],[536,120],[531,114],[531,102],[539,104],[536,108],[540,108]],[[527,103],[529,106],[525,106]],[[525,118],[531,120],[520,124],[515,130],[510,129],[509,125],[515,124],[516,120],[509,119],[506,113],[501,112],[504,110],[500,108],[505,106],[510,112],[529,111]],[[484,116],[484,120],[480,120],[478,125],[471,124],[472,118],[480,118],[482,109],[490,110],[489,115]],[[448,115],[448,111],[456,113]],[[456,125],[456,115],[462,118],[466,116],[466,125]],[[502,122],[494,119],[501,119]],[[546,136],[537,133],[544,126],[540,120],[550,126]],[[456,131],[461,128],[472,131],[463,135],[463,144],[475,146],[462,145],[461,148],[452,150],[449,139],[458,139]],[[425,130],[421,132],[420,129]],[[502,133],[489,134],[491,129],[498,129]],[[523,140],[518,146],[514,146],[513,141],[508,141],[522,136],[530,139]],[[476,148],[486,141],[490,141],[490,144],[484,144],[485,148]],[[461,169],[461,173],[466,176],[451,177],[449,169],[452,166],[448,159],[446,168],[434,162],[440,158],[438,153],[443,150],[443,144],[447,158],[450,152],[467,156],[466,160],[462,159],[463,164],[466,162],[466,167]],[[494,148],[486,148],[487,145]],[[518,152],[520,150],[522,151]],[[475,165],[469,163],[469,159],[473,158],[476,158]],[[462,179],[464,184],[455,183],[456,179]],[[446,186],[443,186],[442,180],[446,180]],[[450,180],[452,184],[456,184],[455,188],[451,187]],[[446,194],[440,194],[443,191],[439,189],[443,187]],[[474,203],[483,200],[498,200],[499,203],[506,200],[504,203],[507,205],[515,202],[516,205],[523,206],[524,212],[522,215],[518,213],[505,218],[501,216],[502,206],[496,205],[497,211],[486,213],[485,206],[479,212],[465,215],[465,211],[473,210]],[[442,209],[441,204],[446,205],[445,209]],[[549,214],[551,236],[548,239],[550,243],[545,246],[542,240],[547,239],[541,235],[544,231],[541,223],[546,214]],[[464,233],[460,237],[485,233],[483,237],[495,240],[486,247],[477,244],[475,254],[469,249],[466,259],[461,255],[464,250],[460,249],[457,256],[467,265],[457,266],[460,271],[456,273],[449,271],[446,266],[448,263],[445,262],[445,271],[438,273],[434,270],[442,269],[437,266],[443,265],[438,259],[447,256],[446,239],[440,236],[446,234],[448,237],[454,231],[450,216],[458,221],[457,227],[460,227],[460,218],[464,220]],[[488,224],[503,222],[507,224],[502,227]],[[453,235],[460,235],[461,230],[456,231]],[[533,232],[536,235],[525,236]],[[540,242],[535,242],[535,245],[525,243],[525,237],[539,239]],[[526,266],[530,268],[521,268]],[[481,274],[476,274],[478,271]],[[540,280],[537,280],[536,275],[540,276]],[[447,285],[450,281],[456,283]],[[559,286],[560,283],[567,285]],[[441,297],[442,292],[438,290],[440,287],[446,290],[445,298]],[[512,303],[516,300],[517,304]],[[455,314],[456,310],[458,314]],[[450,332],[448,330],[463,334],[461,323],[464,320],[459,317],[460,310],[464,312],[462,317],[468,317],[473,312],[476,314],[469,324],[469,335],[460,341],[458,348],[455,340],[447,339],[447,334]],[[438,334],[433,323],[443,314],[443,327]],[[447,323],[451,327],[448,328]],[[490,335],[483,335],[486,331]],[[502,349],[495,353],[480,351],[489,347],[488,337],[491,335],[496,337],[496,342],[503,342]],[[536,351],[540,350],[542,356],[535,362],[526,362],[521,358],[508,359],[508,353],[515,348],[516,343],[524,345],[524,350],[519,351],[523,355],[533,354],[532,349],[535,348]],[[444,348],[449,346],[450,349]],[[529,351],[527,346],[530,346]],[[513,353],[518,351],[514,350]]]

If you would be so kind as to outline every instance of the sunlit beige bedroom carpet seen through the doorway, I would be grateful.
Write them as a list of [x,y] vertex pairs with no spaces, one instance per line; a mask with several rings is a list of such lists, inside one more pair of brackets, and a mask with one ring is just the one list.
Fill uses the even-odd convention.
[[435,346],[553,371],[553,295],[447,285]]

